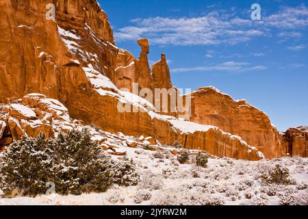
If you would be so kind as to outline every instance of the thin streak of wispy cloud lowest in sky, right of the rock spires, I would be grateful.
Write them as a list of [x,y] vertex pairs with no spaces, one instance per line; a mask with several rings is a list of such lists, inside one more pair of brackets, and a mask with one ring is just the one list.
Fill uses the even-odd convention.
[[197,72],[197,71],[224,71],[231,73],[242,73],[251,70],[264,70],[266,66],[251,66],[247,62],[223,62],[221,64],[211,66],[199,66],[193,68],[173,68],[172,73],[183,73],[183,72]]

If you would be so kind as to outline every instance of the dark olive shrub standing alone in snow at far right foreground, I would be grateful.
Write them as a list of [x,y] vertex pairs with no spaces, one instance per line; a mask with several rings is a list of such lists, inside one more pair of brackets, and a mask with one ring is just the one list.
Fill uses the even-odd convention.
[[261,179],[265,183],[270,184],[290,185],[292,183],[289,169],[282,168],[279,164],[277,164],[273,170],[264,172],[261,175]]

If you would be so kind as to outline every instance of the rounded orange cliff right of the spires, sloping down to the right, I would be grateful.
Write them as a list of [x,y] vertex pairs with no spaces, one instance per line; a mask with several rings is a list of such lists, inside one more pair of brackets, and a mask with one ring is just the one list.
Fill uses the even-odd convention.
[[282,138],[268,116],[246,101],[235,101],[216,88],[198,88],[192,92],[190,120],[214,125],[241,136],[268,159],[281,156],[279,149]]

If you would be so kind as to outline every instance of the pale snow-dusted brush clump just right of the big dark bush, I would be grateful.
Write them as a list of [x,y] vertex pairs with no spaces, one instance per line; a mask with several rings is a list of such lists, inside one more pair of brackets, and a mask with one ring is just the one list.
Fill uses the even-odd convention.
[[142,177],[142,181],[138,184],[138,188],[146,190],[160,190],[164,186],[162,177],[154,175],[152,172],[146,172]]

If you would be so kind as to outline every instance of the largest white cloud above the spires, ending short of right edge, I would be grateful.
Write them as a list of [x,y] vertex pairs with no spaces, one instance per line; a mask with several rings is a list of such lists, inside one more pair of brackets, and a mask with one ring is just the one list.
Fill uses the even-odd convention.
[[251,21],[214,11],[194,18],[136,18],[130,27],[118,29],[116,40],[149,38],[153,44],[214,45],[237,44],[264,35],[259,29],[247,28]]

